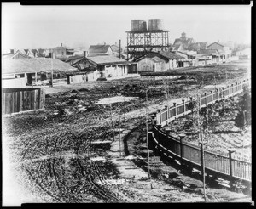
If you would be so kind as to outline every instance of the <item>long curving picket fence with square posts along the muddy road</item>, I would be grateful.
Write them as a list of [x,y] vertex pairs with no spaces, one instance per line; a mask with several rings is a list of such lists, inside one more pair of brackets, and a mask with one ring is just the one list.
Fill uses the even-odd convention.
[[[215,92],[205,93],[201,95],[199,101],[200,108],[208,104],[215,103],[217,100],[232,97],[237,93],[242,93],[243,87],[249,82],[249,79],[242,82],[236,82],[226,88],[217,89]],[[153,116],[153,130],[149,132],[149,138],[157,150],[167,156],[177,159],[181,164],[189,165],[197,169],[202,168],[201,163],[201,148],[194,144],[183,142],[182,138],[175,138],[170,135],[167,130],[163,132],[161,127],[166,126],[170,121],[178,117],[189,114],[192,110],[192,102],[195,99],[190,98],[190,101],[182,104],[173,104],[172,107],[167,107],[164,110],[158,110]],[[204,150],[205,171],[209,175],[214,175],[219,178],[228,178],[230,181],[240,180],[247,184],[252,181],[252,163],[245,159],[232,156],[232,151],[227,153],[217,153],[209,150]]]

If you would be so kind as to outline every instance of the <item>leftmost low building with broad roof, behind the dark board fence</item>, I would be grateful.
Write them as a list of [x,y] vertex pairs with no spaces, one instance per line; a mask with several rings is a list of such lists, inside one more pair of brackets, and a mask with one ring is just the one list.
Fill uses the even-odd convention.
[[51,72],[53,79],[60,79],[67,77],[67,71],[77,69],[59,59],[3,59],[2,82],[8,87],[42,85],[49,82]]

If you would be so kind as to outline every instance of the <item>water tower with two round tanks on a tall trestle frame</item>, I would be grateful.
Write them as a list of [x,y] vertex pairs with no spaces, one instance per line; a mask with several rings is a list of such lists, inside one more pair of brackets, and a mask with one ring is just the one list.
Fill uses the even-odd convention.
[[163,20],[131,20],[131,31],[127,33],[127,53],[130,59],[147,54],[151,51],[167,51],[169,31],[164,30]]

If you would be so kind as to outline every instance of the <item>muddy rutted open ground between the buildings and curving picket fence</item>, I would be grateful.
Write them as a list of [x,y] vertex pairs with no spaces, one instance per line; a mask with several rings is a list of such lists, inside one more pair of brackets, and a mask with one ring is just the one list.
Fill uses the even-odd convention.
[[[207,85],[233,83],[249,75],[247,65],[198,71],[204,76],[172,81],[133,77],[46,88],[45,110],[3,117],[4,197],[15,197],[18,203],[204,201],[200,180],[179,173],[154,154],[148,180],[145,159],[140,159],[145,156],[129,145],[137,146],[145,137],[140,124],[145,121],[146,103],[149,114],[167,103],[166,86],[172,102],[178,102],[205,92]],[[121,96],[136,99],[100,102]],[[131,132],[136,127],[142,129]],[[226,189],[207,189],[207,201],[249,200]]]

